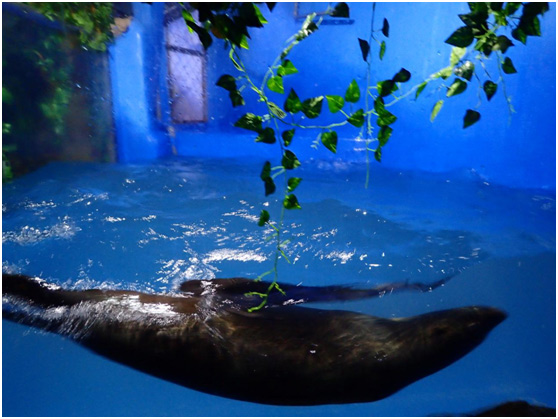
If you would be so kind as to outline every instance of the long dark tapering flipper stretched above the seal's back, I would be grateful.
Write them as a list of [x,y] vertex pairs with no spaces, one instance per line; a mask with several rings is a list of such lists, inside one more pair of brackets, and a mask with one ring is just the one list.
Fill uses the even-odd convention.
[[[273,291],[268,296],[268,306],[291,305],[302,303],[334,302],[360,300],[364,298],[381,297],[385,294],[399,291],[430,292],[448,282],[452,276],[447,276],[430,284],[396,282],[378,285],[372,288],[356,288],[349,285],[332,285],[312,287],[278,283],[284,294]],[[267,293],[271,282],[254,281],[247,278],[220,278],[214,280],[189,280],[180,286],[180,291],[194,296],[214,293],[216,296],[230,300],[243,307],[252,307],[259,303],[257,293]],[[260,300],[261,301],[261,300]]]

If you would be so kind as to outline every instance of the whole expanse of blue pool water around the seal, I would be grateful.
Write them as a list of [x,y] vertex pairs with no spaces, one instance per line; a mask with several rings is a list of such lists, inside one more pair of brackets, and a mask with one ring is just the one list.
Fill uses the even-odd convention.
[[[261,164],[51,164],[3,185],[3,269],[77,289],[163,292],[191,278],[272,267]],[[396,172],[305,163],[286,215],[282,281],[435,281],[430,293],[322,307],[400,317],[458,306],[508,312],[472,353],[384,400],[277,407],[199,393],[119,365],[68,339],[2,322],[6,416],[423,416],[510,400],[556,406],[556,200],[474,172]],[[342,391],[342,389],[340,389]]]

